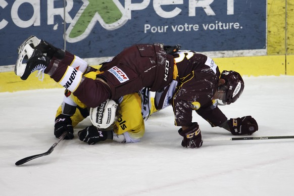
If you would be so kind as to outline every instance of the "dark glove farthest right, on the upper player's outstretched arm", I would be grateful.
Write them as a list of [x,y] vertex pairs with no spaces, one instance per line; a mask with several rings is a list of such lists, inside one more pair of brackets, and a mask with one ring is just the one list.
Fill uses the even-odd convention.
[[252,133],[258,130],[257,122],[251,116],[231,118],[228,120],[228,124],[233,135],[252,135]]

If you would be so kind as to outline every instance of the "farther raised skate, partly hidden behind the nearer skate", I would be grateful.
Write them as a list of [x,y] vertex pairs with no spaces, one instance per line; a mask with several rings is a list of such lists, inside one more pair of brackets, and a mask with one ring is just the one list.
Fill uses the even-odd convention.
[[19,47],[18,47],[18,54],[23,51],[23,48],[26,44],[29,44],[33,49],[36,49],[44,54],[47,57],[53,58],[56,57],[57,59],[63,59],[65,56],[65,52],[60,48],[55,47],[51,43],[44,41],[42,39],[38,39],[36,36],[31,35],[28,37]]

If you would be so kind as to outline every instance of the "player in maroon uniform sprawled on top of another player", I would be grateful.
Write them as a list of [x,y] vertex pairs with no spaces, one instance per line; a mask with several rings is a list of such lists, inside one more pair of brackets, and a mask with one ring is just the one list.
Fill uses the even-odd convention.
[[[89,107],[149,87],[157,91],[158,100],[172,105],[175,125],[182,127],[178,131],[183,136],[181,144],[186,148],[199,148],[203,143],[198,123],[192,122],[193,110],[212,126],[223,127],[234,135],[251,135],[258,130],[251,116],[228,120],[217,107],[235,102],[242,93],[244,83],[238,73],[226,71],[220,77],[218,66],[209,57],[193,51],[167,54],[165,49],[163,44],[125,48],[103,63],[104,73],[93,80],[67,63],[70,53],[34,37],[19,47],[15,73],[23,80],[36,70],[46,73]],[[28,61],[22,64],[25,57]],[[166,96],[166,92],[170,94]],[[158,109],[163,108],[160,103]]]

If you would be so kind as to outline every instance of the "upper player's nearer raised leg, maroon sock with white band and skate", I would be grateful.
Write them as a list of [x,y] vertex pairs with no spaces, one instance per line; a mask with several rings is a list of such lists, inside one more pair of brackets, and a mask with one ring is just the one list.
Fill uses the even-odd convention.
[[[111,97],[111,89],[106,82],[82,76],[88,65],[79,57],[66,53],[62,60],[57,57],[51,59],[34,49],[30,43],[23,45],[21,50],[16,62],[15,74],[22,80],[26,80],[34,71],[48,74],[72,91],[88,107],[97,107]],[[28,59],[26,63],[23,63],[24,59]]]

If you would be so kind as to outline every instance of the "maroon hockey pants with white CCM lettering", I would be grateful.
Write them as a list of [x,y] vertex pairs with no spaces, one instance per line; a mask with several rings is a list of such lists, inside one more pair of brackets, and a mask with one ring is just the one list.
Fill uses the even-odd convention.
[[136,92],[143,87],[156,91],[167,86],[173,77],[174,60],[163,44],[136,44],[125,48],[111,61],[103,63],[97,76],[111,88],[111,99]]

